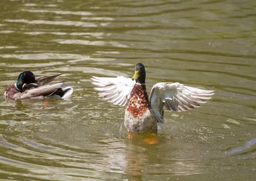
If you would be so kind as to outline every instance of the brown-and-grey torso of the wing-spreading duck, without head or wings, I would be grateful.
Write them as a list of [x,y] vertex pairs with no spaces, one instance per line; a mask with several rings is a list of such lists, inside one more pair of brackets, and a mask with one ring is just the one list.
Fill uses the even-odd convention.
[[157,122],[154,118],[145,84],[135,83],[125,109],[125,128],[137,133],[157,133]]

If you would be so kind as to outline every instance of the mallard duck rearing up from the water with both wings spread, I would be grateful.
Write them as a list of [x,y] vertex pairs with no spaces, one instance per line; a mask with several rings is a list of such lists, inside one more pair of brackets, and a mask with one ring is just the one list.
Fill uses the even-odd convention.
[[146,72],[142,63],[135,66],[134,76],[99,78],[92,76],[99,95],[109,102],[125,106],[125,128],[128,132],[157,133],[157,123],[164,123],[163,107],[171,111],[187,111],[200,107],[213,95],[212,90],[197,89],[181,83],[156,83],[148,99],[145,86]]

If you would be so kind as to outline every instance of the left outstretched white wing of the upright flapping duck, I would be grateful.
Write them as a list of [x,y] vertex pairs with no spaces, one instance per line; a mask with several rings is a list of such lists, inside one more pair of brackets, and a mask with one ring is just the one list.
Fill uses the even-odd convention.
[[134,87],[135,80],[119,76],[117,78],[99,78],[92,76],[94,89],[99,91],[99,95],[109,102],[125,106],[130,98],[131,90]]

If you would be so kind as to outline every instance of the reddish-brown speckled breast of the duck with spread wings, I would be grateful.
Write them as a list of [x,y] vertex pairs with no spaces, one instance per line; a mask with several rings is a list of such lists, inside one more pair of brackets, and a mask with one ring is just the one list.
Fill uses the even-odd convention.
[[126,110],[131,113],[134,118],[139,118],[147,110],[150,109],[148,94],[145,85],[136,83],[131,91],[130,99]]

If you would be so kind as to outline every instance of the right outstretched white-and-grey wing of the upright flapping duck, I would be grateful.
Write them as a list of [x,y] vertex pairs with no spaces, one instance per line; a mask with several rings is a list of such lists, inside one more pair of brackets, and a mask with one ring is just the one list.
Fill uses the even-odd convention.
[[206,103],[214,95],[212,90],[197,89],[184,86],[181,83],[161,82],[156,83],[151,89],[149,102],[157,118],[157,122],[163,123],[163,106],[171,111],[187,111],[200,107],[199,103]]

